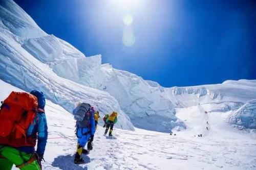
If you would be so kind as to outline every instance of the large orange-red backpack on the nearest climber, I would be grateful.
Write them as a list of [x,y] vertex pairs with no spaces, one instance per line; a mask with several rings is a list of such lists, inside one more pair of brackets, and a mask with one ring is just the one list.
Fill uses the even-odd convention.
[[27,130],[37,113],[37,98],[27,92],[11,92],[0,109],[0,144],[11,147],[32,146]]

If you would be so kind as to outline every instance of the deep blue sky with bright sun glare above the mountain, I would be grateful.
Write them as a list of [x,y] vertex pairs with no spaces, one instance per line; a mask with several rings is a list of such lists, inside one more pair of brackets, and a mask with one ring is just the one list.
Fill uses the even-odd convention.
[[86,56],[164,87],[256,79],[254,1],[15,2]]

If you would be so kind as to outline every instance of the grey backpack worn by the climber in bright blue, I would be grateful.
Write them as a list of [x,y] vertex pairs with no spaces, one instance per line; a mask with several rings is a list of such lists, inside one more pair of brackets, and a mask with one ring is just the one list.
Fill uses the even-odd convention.
[[73,112],[74,118],[77,120],[79,128],[90,128],[91,105],[81,103]]

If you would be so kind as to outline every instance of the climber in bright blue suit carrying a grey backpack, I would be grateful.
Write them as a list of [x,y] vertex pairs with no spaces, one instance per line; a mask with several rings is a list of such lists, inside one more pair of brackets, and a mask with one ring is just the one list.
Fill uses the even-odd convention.
[[[77,102],[73,115],[76,120],[76,136],[78,138],[74,163],[84,163],[82,154],[89,154],[93,149],[93,138],[95,133],[94,108],[88,103]],[[87,150],[84,149],[86,143]]]

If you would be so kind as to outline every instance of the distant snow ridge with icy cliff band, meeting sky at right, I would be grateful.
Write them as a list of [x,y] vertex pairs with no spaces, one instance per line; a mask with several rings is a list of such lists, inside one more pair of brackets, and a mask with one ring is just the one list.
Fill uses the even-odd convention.
[[222,84],[165,88],[176,107],[199,103],[241,102],[256,99],[256,80],[225,81]]

